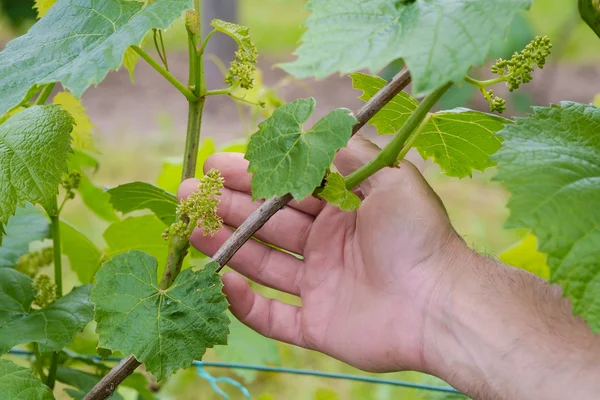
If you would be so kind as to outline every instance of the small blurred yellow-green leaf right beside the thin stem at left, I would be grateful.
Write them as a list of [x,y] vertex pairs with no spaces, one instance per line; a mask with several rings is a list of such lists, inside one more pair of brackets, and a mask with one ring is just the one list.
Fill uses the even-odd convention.
[[65,221],[60,221],[62,252],[69,258],[71,270],[81,283],[91,283],[100,267],[102,252],[85,235]]

